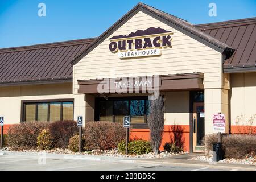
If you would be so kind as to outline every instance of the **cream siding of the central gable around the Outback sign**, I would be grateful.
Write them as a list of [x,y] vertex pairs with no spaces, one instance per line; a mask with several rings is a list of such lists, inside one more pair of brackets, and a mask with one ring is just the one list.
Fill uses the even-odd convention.
[[[118,54],[109,51],[110,37],[127,35],[149,27],[160,27],[172,31],[174,33],[172,48],[163,49],[159,57],[126,60],[119,59]],[[221,53],[141,11],[118,28],[109,38],[73,66],[73,93],[77,93],[79,89],[77,80],[193,72],[205,73],[205,88],[221,88]]]

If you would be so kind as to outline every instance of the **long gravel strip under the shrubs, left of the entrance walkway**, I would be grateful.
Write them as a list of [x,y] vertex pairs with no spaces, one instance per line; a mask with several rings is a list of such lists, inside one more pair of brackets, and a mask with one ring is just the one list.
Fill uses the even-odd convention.
[[[43,152],[39,149],[29,149],[29,150],[15,150],[15,148],[5,147],[3,151],[19,151],[19,152]],[[73,154],[73,155],[98,155],[98,156],[111,156],[111,157],[122,157],[122,158],[143,158],[143,159],[152,159],[152,158],[166,158],[172,155],[180,155],[180,154],[187,154],[188,152],[178,152],[178,153],[169,153],[160,151],[159,154],[155,155],[153,152],[148,154],[141,154],[141,155],[125,155],[118,152],[117,149],[114,150],[92,150],[92,151],[84,151],[84,152],[72,152],[68,149],[62,148],[54,148],[52,150],[45,151],[46,153],[52,154]]]

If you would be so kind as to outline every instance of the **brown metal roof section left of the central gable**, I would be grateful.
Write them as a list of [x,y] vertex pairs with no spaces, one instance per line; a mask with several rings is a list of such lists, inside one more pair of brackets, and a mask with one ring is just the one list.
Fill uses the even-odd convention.
[[0,49],[0,85],[72,82],[72,59],[95,38]]

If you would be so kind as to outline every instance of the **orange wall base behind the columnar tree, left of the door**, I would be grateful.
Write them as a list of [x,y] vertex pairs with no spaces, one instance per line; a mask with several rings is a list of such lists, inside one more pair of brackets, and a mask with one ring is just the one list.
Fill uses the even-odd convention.
[[[174,135],[175,133],[175,135]],[[150,139],[150,129],[131,129],[130,139]],[[184,151],[189,151],[189,125],[164,125],[162,144],[159,150],[163,150],[166,142],[181,140],[184,144]]]

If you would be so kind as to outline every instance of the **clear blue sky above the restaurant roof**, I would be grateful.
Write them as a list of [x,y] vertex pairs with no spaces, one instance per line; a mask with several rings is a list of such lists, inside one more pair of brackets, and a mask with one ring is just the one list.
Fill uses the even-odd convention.
[[[46,4],[46,17],[38,16],[40,2]],[[256,16],[256,0],[0,0],[0,48],[95,37],[138,2],[193,24]],[[208,15],[211,2],[216,17]]]

